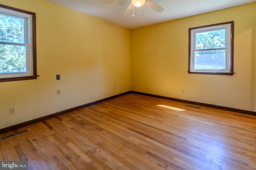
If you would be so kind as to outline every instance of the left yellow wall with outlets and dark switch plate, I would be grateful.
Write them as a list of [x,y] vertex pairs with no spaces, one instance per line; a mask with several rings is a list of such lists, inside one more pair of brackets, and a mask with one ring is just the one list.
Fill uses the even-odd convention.
[[40,75],[0,83],[0,128],[131,90],[130,30],[46,0],[0,3],[36,13]]

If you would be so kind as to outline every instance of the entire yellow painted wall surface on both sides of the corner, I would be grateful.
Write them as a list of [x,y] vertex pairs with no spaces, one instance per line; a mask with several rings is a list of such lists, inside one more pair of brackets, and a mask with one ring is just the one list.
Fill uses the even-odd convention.
[[[40,75],[0,83],[0,128],[130,90],[256,111],[256,2],[132,31],[46,0],[0,3],[36,13]],[[188,28],[232,20],[236,73],[188,74]]]

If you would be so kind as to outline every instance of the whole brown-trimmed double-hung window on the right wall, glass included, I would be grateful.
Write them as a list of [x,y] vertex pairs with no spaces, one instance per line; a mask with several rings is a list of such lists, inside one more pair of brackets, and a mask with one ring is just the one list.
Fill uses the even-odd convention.
[[189,28],[188,73],[233,75],[234,22]]

